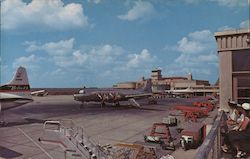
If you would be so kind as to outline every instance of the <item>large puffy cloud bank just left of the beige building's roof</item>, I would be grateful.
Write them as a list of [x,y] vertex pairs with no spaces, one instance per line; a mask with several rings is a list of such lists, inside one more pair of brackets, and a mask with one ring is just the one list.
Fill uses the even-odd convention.
[[218,67],[216,42],[209,30],[189,33],[181,38],[177,45],[167,46],[165,49],[171,49],[175,54],[179,53],[179,56],[165,68],[171,75],[186,75],[191,72],[201,78],[203,75],[211,75]]

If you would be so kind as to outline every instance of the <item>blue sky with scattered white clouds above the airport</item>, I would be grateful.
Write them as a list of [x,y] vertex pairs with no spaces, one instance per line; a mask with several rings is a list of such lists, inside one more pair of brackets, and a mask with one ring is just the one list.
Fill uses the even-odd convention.
[[1,84],[111,87],[192,73],[214,84],[214,33],[248,27],[247,0],[1,0]]

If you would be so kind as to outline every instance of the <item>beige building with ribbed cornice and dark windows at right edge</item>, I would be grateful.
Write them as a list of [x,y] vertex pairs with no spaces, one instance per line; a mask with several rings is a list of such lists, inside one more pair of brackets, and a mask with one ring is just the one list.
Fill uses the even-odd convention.
[[220,107],[250,103],[250,29],[215,33],[220,60]]

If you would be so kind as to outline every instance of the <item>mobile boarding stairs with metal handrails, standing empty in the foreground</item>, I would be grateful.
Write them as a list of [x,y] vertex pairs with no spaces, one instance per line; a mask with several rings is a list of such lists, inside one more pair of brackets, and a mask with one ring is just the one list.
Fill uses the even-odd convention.
[[89,139],[83,128],[75,126],[72,120],[46,121],[43,136],[38,140],[42,144],[60,146],[64,158],[107,159],[102,148]]

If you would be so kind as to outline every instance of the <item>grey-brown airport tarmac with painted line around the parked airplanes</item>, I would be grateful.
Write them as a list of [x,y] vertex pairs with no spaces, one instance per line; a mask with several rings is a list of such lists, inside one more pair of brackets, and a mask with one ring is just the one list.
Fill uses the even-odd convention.
[[[4,112],[8,125],[0,128],[0,158],[64,158],[60,146],[38,141],[43,135],[45,120],[72,120],[100,145],[142,143],[152,124],[167,117],[172,106],[197,100],[202,99],[161,99],[157,105],[140,100],[142,109],[130,107],[126,102],[120,107],[101,108],[99,104],[91,103],[81,108],[81,103],[74,101],[71,95],[34,97],[34,102]],[[171,133],[172,136],[178,135],[174,128],[171,128]],[[161,155],[168,153],[172,152],[161,151]],[[195,150],[185,156],[194,154]]]

